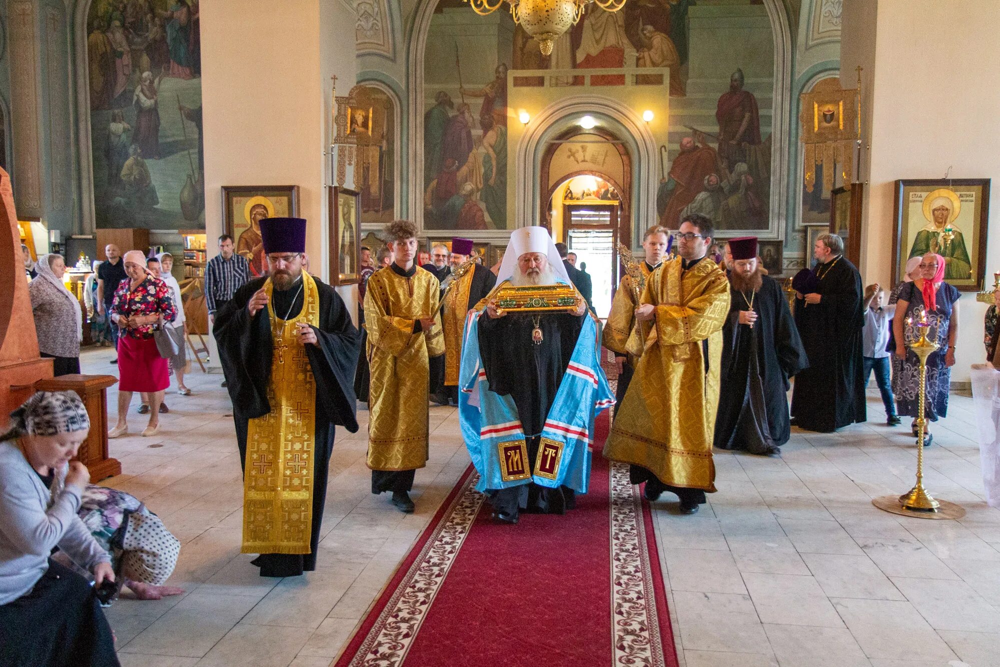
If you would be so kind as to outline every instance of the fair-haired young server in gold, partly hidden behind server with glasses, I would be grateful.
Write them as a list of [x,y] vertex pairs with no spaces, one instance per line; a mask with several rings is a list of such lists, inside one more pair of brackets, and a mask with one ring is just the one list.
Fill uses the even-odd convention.
[[[653,225],[643,235],[642,247],[646,251],[646,256],[639,262],[639,270],[644,279],[649,279],[650,274],[660,266],[664,255],[667,254],[669,233],[666,227]],[[645,281],[639,285],[629,274],[622,276],[618,291],[615,292],[615,298],[611,302],[608,322],[601,334],[604,347],[615,353],[615,365],[618,367],[615,402],[618,404],[625,398],[625,391],[635,373],[635,365],[639,361],[639,355],[642,354],[643,337],[639,327],[636,326],[635,309],[639,305],[638,297],[642,296],[644,288]]]

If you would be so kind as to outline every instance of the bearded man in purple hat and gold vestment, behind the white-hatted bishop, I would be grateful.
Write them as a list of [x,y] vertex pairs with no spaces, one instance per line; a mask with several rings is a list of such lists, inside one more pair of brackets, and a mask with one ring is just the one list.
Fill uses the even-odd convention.
[[[455,278],[456,269],[472,254],[469,239],[455,237],[451,240],[452,271],[441,285],[444,289],[444,307],[441,324],[444,327],[444,398],[458,405],[458,369],[462,361],[462,334],[465,332],[469,308],[485,299],[497,277],[482,264],[473,264],[461,278]],[[455,282],[455,285],[451,285]]]

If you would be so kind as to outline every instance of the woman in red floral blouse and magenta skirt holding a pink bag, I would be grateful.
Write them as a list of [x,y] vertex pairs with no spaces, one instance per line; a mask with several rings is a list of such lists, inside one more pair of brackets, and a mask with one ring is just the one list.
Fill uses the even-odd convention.
[[130,250],[122,260],[128,280],[118,286],[111,305],[111,322],[120,330],[118,424],[108,432],[108,437],[128,433],[128,406],[136,391],[150,395],[149,424],[142,435],[152,436],[160,430],[160,403],[164,390],[170,386],[167,360],[156,348],[153,331],[161,322],[172,320],[177,309],[170,288],[149,274],[144,254]]

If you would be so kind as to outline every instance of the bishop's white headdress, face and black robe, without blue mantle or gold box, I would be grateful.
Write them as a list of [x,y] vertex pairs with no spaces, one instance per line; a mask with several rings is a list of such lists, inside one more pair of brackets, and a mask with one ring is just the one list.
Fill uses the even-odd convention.
[[[497,278],[498,288],[504,283],[515,287],[572,284],[544,227],[522,227],[511,234]],[[588,317],[587,302],[579,293],[577,298],[575,312],[544,315],[505,313],[491,299],[479,318],[482,367],[490,390],[514,401],[527,445],[529,469],[535,468],[546,419],[569,421],[549,412]],[[520,510],[563,514],[575,506],[575,492],[565,485],[549,488],[529,483],[487,489],[486,495],[493,505],[494,519],[504,523],[517,523]]]

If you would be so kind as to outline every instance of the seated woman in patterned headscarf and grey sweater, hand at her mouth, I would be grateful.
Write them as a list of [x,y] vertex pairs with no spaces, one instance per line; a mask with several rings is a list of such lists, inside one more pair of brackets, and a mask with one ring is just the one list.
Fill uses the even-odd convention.
[[38,392],[0,435],[0,664],[117,666],[95,589],[53,561],[55,547],[114,585],[108,553],[77,516],[90,473],[70,462],[90,419],[73,392]]

